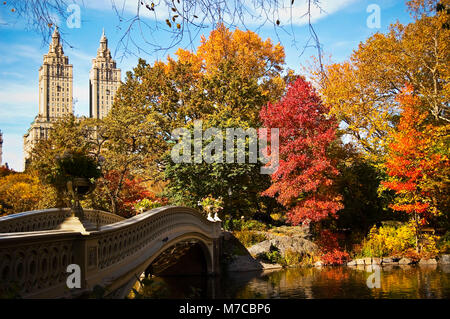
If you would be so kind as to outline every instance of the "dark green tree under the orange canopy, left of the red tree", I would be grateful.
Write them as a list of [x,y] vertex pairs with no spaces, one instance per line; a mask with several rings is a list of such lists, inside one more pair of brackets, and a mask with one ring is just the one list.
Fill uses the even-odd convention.
[[[244,122],[233,118],[227,119],[227,128],[246,128]],[[234,121],[233,121],[234,120]],[[203,134],[210,128],[219,129],[224,137],[223,151],[215,153],[223,162],[195,163],[194,154],[190,156],[190,163],[175,163],[168,156],[165,166],[165,178],[168,181],[166,194],[180,205],[198,208],[198,202],[212,195],[214,198],[223,197],[224,212],[230,217],[246,216],[255,219],[267,218],[271,213],[279,210],[277,203],[268,197],[260,196],[262,190],[270,186],[270,177],[261,174],[261,163],[249,163],[249,139],[244,142],[244,156],[246,163],[226,162],[225,123],[203,122]],[[192,127],[189,132],[193,134]],[[205,154],[211,140],[205,141],[202,154]],[[191,148],[194,141],[191,139]],[[237,158],[237,140],[233,143],[235,158]]]

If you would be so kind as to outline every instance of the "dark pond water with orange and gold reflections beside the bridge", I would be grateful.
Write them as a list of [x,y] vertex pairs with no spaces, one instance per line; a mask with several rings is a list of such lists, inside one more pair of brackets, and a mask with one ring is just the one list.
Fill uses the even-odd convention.
[[228,273],[216,278],[166,277],[169,298],[450,298],[450,265],[380,268],[379,288],[367,286],[374,269],[292,268]]

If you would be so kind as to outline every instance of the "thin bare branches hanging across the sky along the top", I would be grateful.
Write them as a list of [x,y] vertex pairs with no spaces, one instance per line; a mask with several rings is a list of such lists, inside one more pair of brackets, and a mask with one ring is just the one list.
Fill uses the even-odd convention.
[[[219,23],[228,28],[239,26],[256,32],[266,25],[272,25],[279,42],[279,31],[292,37],[292,43],[299,49],[300,56],[306,49],[315,48],[322,67],[322,47],[313,26],[312,16],[314,8],[323,12],[320,0],[296,0],[299,4],[306,5],[306,12],[297,16],[293,14],[295,0],[110,1],[111,10],[118,18],[117,30],[121,33],[115,53],[120,54],[122,58],[155,51],[167,52],[179,46],[186,37],[188,46],[193,49],[194,41],[200,32]],[[25,20],[30,30],[40,33],[43,42],[48,44],[53,26],[67,20],[70,14],[67,7],[74,3],[85,6],[83,0],[10,0],[6,1],[6,6],[14,10],[18,18]],[[286,9],[289,9],[290,17],[288,21],[282,21],[280,13]],[[300,49],[299,41],[295,38],[294,25],[299,21],[297,19],[305,17],[310,37]],[[161,31],[168,36],[166,42],[153,36]]]

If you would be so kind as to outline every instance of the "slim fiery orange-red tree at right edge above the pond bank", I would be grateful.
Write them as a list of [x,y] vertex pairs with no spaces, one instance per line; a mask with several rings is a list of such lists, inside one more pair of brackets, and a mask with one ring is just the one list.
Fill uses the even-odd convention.
[[389,143],[385,162],[389,177],[382,185],[395,191],[391,208],[412,215],[419,243],[421,226],[440,214],[440,208],[448,208],[450,127],[443,131],[427,123],[427,113],[419,111],[422,102],[411,87],[398,101],[403,112]]

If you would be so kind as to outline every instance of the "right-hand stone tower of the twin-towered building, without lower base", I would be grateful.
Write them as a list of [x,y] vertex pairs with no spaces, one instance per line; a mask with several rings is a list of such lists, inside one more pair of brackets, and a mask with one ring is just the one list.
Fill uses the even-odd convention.
[[120,69],[111,57],[108,39],[103,30],[97,57],[92,60],[89,75],[89,115],[104,118],[112,107],[114,96],[120,86]]

